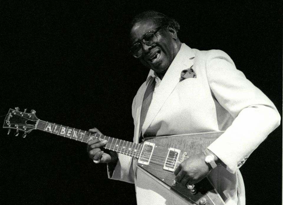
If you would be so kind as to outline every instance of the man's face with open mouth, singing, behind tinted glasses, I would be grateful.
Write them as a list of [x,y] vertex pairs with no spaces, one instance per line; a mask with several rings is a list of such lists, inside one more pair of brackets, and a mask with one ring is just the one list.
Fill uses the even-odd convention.
[[[159,27],[150,20],[142,20],[134,24],[131,29],[131,44],[135,44],[143,38],[143,35]],[[159,29],[156,33],[158,38],[156,44],[147,46],[142,44],[142,55],[140,62],[157,73],[165,73],[175,58],[178,49],[172,32],[166,27]]]

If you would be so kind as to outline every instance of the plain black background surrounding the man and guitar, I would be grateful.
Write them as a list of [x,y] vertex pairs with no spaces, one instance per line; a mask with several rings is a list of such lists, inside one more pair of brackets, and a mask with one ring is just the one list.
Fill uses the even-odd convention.
[[[280,2],[280,3],[279,3]],[[132,99],[148,69],[127,53],[128,23],[153,9],[181,25],[181,42],[221,49],[282,116],[281,1],[1,1],[1,112],[131,140]],[[4,117],[1,117],[4,121]],[[84,143],[1,130],[1,204],[135,204],[134,185],[107,179]],[[281,204],[282,127],[241,172],[246,204]]]

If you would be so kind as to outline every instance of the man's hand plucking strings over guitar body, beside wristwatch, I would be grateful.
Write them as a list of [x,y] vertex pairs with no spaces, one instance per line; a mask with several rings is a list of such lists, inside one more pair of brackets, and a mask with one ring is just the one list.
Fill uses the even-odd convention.
[[205,178],[210,169],[211,167],[205,163],[205,155],[203,153],[193,155],[176,168],[174,172],[176,175],[175,180],[184,186],[187,184],[192,185]]

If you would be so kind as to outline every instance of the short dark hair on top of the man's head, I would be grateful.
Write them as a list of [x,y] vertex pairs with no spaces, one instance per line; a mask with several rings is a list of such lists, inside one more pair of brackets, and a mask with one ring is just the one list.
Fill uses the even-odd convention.
[[130,29],[133,28],[134,24],[144,19],[151,20],[157,26],[169,25],[170,27],[174,28],[176,32],[178,32],[180,29],[180,25],[175,19],[171,19],[162,13],[152,10],[144,11],[140,14],[137,14],[130,23]]

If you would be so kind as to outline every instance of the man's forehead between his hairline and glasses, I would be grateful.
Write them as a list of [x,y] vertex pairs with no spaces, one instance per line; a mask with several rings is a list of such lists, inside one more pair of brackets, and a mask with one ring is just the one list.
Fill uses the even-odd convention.
[[131,42],[135,42],[138,39],[142,39],[143,35],[149,31],[152,31],[157,28],[157,25],[151,20],[142,20],[136,22],[131,28]]

